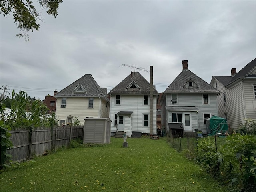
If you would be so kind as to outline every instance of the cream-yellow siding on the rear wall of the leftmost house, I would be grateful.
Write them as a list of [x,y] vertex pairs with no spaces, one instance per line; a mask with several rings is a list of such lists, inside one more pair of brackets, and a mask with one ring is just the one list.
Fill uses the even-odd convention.
[[93,108],[88,108],[88,97],[86,98],[71,98],[68,97],[66,101],[66,108],[61,108],[62,98],[57,98],[56,103],[56,118],[58,120],[65,120],[70,115],[73,118],[76,116],[80,120],[80,124],[84,124],[86,117],[99,117],[99,98],[94,98]]

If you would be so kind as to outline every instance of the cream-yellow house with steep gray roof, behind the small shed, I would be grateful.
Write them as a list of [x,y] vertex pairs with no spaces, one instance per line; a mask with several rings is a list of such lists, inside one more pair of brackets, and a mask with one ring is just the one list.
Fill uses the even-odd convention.
[[85,74],[54,97],[57,99],[56,118],[59,124],[74,122],[80,124],[88,117],[109,117],[109,99],[106,88],[100,88],[91,74]]

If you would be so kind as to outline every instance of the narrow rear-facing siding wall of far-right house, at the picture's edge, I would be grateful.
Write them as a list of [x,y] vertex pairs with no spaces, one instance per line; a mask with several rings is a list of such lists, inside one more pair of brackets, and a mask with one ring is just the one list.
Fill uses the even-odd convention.
[[242,82],[244,90],[245,118],[256,119],[256,98],[254,97],[254,87],[256,79],[244,80]]

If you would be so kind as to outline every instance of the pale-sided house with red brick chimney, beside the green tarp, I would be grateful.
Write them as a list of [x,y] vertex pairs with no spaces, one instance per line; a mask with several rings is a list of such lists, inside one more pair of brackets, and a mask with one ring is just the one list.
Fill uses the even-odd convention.
[[218,90],[188,70],[188,60],[182,61],[183,70],[163,92],[162,124],[183,127],[184,132],[195,129],[207,133],[206,119],[218,116]]

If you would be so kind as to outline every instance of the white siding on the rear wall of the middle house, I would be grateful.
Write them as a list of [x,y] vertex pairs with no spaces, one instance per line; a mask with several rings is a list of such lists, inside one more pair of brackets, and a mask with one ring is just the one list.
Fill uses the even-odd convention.
[[[110,99],[110,119],[112,120],[111,132],[116,132],[116,126],[114,126],[114,114],[119,111],[132,111],[132,131],[150,133],[149,126],[143,127],[143,114],[148,114],[148,120],[150,119],[150,103],[144,105],[144,95],[121,95],[120,105],[116,105],[115,98],[115,95],[112,95]],[[128,128],[125,122],[125,131],[126,129]],[[156,96],[154,96],[153,99],[153,133],[156,134]],[[127,136],[130,135],[127,133]]]

